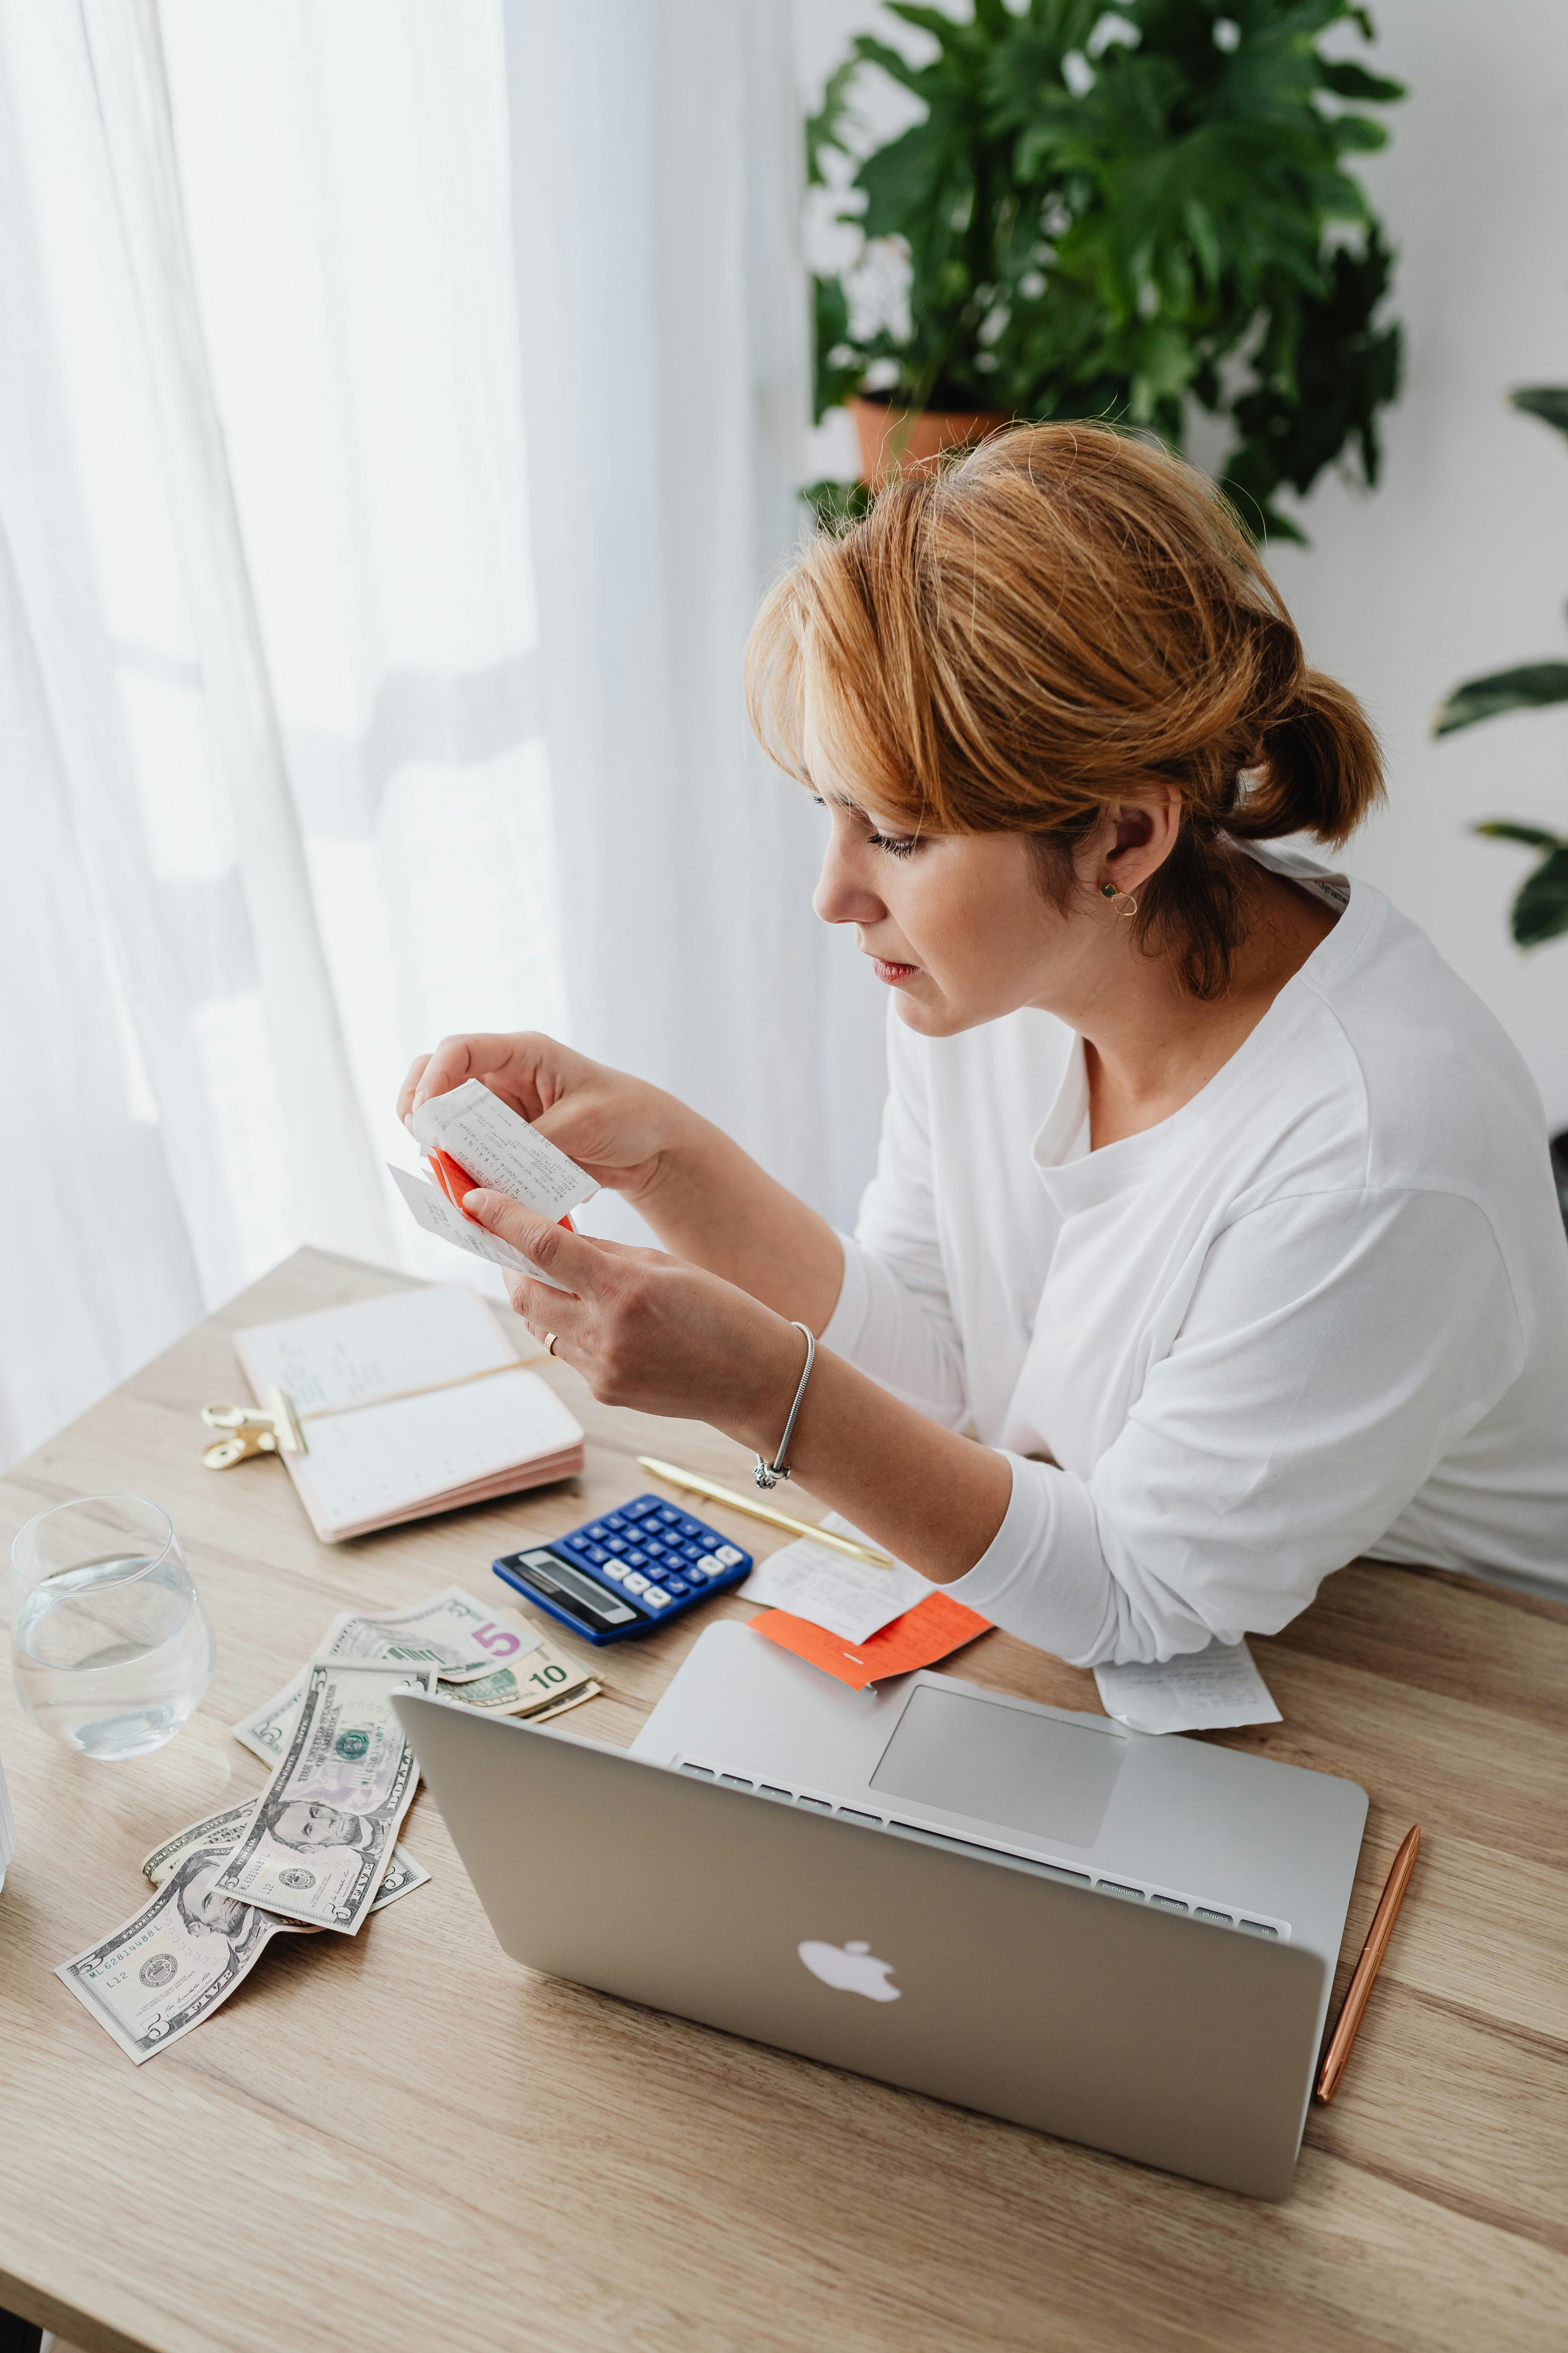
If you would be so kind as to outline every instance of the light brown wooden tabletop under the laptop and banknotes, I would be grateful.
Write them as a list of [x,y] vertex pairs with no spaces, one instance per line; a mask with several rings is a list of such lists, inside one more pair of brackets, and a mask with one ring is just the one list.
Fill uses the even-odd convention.
[[[244,1393],[228,1327],[397,1287],[299,1252],[0,1485],[7,1544],[71,1494],[162,1501],[219,1638],[200,1715],[129,1765],[59,1748],[9,1685],[0,1701],[21,1838],[0,1894],[0,2304],[160,2353],[1563,2344],[1568,1607],[1439,1572],[1333,1577],[1255,1642],[1286,1720],[1225,1734],[1371,1793],[1352,1960],[1399,1835],[1425,1831],[1284,2207],[534,1977],[428,1795],[407,1840],[430,1887],[353,1941],[273,1946],[132,2068],[52,1967],[136,1908],[155,1838],[261,1788],[226,1727],[336,1609],[487,1593],[498,1551],[644,1485],[639,1449],[741,1471],[710,1431],[607,1412],[562,1365],[588,1475],[498,1508],[322,1546],[280,1466],[202,1471],[197,1407]],[[571,1727],[630,1741],[689,1640],[592,1654],[607,1697]],[[1098,1708],[1091,1675],[1001,1633],[954,1666]]]

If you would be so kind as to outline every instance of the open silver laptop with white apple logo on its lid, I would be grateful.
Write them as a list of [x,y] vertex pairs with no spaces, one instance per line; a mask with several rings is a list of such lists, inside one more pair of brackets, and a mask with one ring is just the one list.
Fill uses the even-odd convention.
[[534,1969],[1286,2198],[1366,1793],[710,1626],[628,1753],[404,1697]]

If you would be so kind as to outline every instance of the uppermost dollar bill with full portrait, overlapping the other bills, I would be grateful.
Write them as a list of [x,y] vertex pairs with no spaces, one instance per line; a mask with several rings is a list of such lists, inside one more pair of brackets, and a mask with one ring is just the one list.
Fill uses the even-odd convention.
[[214,1892],[353,1937],[418,1788],[393,1692],[433,1689],[435,1668],[313,1659],[289,1744]]

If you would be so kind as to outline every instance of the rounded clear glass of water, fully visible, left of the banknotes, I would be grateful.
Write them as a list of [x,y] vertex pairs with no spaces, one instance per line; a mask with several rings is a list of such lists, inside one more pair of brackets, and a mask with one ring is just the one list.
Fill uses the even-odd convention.
[[92,1494],[12,1544],[12,1675],[33,1722],[89,1758],[139,1758],[200,1706],[216,1645],[167,1511]]

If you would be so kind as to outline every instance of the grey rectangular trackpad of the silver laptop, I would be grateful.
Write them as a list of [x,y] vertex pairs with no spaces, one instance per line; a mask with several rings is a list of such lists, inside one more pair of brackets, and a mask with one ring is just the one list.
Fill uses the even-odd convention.
[[1011,1831],[1093,1847],[1126,1741],[922,1682],[870,1786]]

